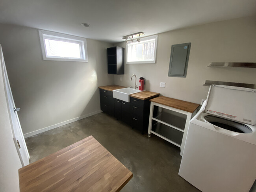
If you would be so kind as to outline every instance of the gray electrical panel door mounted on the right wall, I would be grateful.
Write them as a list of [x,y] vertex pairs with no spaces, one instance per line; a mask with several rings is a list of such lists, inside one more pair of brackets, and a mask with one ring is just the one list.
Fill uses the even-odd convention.
[[190,44],[172,45],[168,76],[186,77]]

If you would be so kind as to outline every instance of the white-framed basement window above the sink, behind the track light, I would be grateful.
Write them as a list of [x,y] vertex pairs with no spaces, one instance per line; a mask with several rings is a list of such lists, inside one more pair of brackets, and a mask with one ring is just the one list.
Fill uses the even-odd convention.
[[126,63],[156,63],[157,35],[126,44]]

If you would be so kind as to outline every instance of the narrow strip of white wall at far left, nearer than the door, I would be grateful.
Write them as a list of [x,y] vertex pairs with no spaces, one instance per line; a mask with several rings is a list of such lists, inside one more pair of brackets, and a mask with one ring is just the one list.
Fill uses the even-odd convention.
[[13,141],[11,122],[7,108],[7,98],[4,90],[4,72],[2,65],[0,66],[0,109],[0,191],[18,192],[18,169],[21,168],[22,165]]

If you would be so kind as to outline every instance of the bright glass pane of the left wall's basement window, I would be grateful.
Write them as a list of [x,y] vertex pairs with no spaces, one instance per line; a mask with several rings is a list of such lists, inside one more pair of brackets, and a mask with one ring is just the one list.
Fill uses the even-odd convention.
[[79,43],[45,39],[45,46],[47,56],[81,58]]

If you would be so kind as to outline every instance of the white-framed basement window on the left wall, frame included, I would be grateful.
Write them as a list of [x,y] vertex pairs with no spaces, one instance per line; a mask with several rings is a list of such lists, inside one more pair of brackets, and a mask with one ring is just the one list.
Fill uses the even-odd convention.
[[39,30],[43,60],[88,62],[86,39]]

